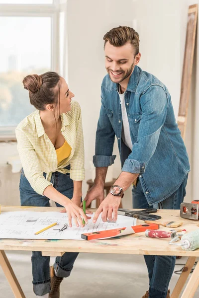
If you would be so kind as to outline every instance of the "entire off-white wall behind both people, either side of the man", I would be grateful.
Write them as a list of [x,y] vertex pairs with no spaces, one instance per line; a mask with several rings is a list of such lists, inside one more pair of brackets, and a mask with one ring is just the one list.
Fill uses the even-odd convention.
[[[100,84],[106,74],[103,58],[103,35],[118,25],[135,27],[140,35],[140,52],[142,54],[139,66],[156,75],[167,85],[177,116],[187,9],[190,4],[192,4],[191,0],[68,0],[68,83],[70,89],[75,93],[75,99],[80,102],[82,107],[86,180],[91,178],[89,161],[92,160],[95,152],[95,133],[100,112]],[[197,50],[197,57],[198,55],[199,51]],[[197,76],[198,72],[199,69]],[[196,75],[194,78],[196,80]],[[198,89],[196,94],[198,94]],[[192,162],[187,201],[197,198],[199,167],[197,113],[199,112],[199,103],[196,102],[196,94],[193,92],[192,95],[186,136],[186,146]],[[193,131],[195,132],[193,133]],[[0,164],[5,164],[6,155],[15,155],[15,151],[15,145],[3,146],[0,144]],[[113,165],[113,172],[117,177],[120,173],[120,161],[116,144],[114,153],[117,158]],[[0,171],[2,172],[2,170]],[[18,202],[19,177],[17,174],[11,174],[8,165],[7,171],[8,177],[12,177],[12,185],[10,188],[9,183],[4,188],[0,187],[0,202],[5,191],[10,191],[10,196],[16,197],[15,202]],[[84,195],[87,191],[86,180],[83,186]],[[124,207],[132,206],[130,190],[126,192],[123,202]],[[16,203],[13,202],[13,205]]]

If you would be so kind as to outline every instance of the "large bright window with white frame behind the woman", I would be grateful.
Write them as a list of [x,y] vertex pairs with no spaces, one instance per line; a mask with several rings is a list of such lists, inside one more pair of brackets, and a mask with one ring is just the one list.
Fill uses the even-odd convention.
[[23,77],[47,71],[64,76],[65,11],[54,2],[0,0],[0,140],[13,139],[15,127],[35,109]]

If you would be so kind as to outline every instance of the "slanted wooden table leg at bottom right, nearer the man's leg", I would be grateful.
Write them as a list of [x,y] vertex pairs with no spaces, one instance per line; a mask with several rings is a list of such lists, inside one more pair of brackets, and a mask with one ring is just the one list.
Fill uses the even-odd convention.
[[181,273],[178,282],[172,292],[171,298],[178,298],[183,290],[183,287],[189,277],[189,274],[194,266],[194,263],[196,261],[196,257],[189,257],[187,260],[187,263],[183,269],[183,272]]

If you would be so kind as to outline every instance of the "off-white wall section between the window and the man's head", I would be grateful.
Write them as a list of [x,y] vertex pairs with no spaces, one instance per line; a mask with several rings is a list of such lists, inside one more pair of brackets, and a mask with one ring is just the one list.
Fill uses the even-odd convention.
[[[100,85],[106,74],[103,55],[103,35],[118,25],[132,26],[132,1],[68,0],[68,73],[69,88],[82,108],[85,138],[86,180],[91,178],[89,161],[95,154],[95,134],[100,113]],[[120,173],[119,153],[114,176]],[[86,194],[87,184],[83,192]],[[131,206],[130,190],[128,191]],[[127,196],[125,196],[127,198]],[[128,201],[128,200],[127,200]]]

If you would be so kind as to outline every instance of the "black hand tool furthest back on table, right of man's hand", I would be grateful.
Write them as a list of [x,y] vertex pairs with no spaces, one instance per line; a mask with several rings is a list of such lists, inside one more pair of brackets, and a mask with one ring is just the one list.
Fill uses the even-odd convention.
[[156,213],[156,212],[157,212],[157,209],[155,208],[138,210],[138,211],[119,208],[117,211],[117,214],[133,217],[141,221],[156,221],[156,220],[160,220],[161,216],[150,214],[150,213]]

